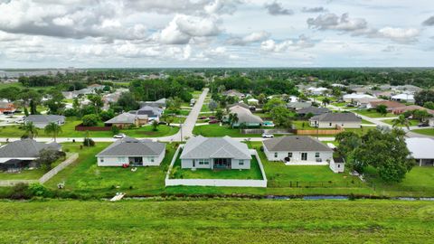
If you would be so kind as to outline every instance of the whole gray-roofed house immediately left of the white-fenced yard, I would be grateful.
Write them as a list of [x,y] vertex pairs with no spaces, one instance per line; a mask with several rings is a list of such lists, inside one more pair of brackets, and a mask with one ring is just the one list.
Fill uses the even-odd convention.
[[165,144],[126,136],[96,157],[99,166],[158,166],[165,158]]

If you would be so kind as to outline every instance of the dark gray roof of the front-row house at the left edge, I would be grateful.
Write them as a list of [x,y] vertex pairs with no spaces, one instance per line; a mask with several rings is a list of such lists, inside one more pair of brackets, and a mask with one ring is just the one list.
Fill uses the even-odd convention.
[[38,157],[39,152],[44,148],[60,150],[61,145],[57,143],[45,144],[36,142],[33,139],[23,139],[14,141],[0,147],[0,157],[20,158],[20,157]]

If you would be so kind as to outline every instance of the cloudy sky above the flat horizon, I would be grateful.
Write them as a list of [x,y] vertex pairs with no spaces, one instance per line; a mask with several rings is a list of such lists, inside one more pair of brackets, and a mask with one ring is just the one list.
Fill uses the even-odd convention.
[[0,0],[0,67],[434,63],[432,0]]

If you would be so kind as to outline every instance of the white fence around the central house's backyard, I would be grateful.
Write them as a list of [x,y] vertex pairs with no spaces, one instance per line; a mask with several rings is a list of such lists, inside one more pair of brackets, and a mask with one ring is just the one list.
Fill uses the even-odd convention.
[[176,157],[183,145],[178,146],[174,158],[170,163],[169,170],[165,175],[165,186],[188,185],[188,186],[231,186],[231,187],[267,187],[267,176],[265,175],[264,166],[260,162],[258,152],[250,150],[250,153],[258,159],[262,180],[227,180],[227,179],[169,179],[170,171],[174,167]]

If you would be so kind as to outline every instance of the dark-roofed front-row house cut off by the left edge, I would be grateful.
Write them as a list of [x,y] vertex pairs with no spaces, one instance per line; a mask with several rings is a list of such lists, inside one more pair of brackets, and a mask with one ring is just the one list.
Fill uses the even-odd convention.
[[45,144],[33,139],[23,139],[0,146],[0,170],[17,172],[24,167],[36,166],[33,161],[39,158],[42,149],[61,151],[57,143]]

